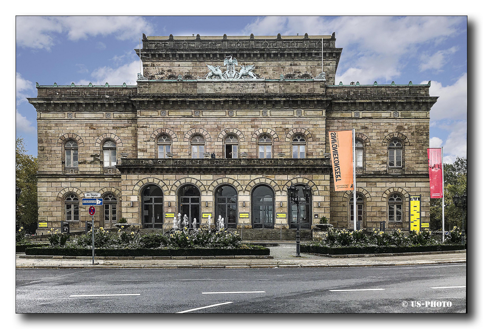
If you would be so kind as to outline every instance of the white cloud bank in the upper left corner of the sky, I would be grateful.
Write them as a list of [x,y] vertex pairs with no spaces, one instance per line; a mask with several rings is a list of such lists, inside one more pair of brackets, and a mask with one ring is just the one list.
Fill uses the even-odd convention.
[[139,16],[18,16],[16,19],[17,45],[34,49],[50,50],[58,33],[67,33],[68,39],[74,41],[111,34],[127,40],[153,31],[151,24]]

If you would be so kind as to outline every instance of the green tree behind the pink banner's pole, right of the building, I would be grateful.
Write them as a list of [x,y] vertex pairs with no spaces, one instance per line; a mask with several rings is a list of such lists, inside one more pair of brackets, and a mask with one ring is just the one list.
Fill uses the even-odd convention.
[[[467,169],[466,158],[456,158],[453,164],[444,164],[444,230],[453,226],[461,227],[461,209],[453,203],[455,194],[466,193]],[[431,199],[430,226],[432,230],[441,229],[442,199]]]

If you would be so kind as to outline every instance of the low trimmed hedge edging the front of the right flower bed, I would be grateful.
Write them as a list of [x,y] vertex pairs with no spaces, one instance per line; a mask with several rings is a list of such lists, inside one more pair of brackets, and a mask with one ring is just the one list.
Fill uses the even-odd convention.
[[351,254],[375,254],[375,253],[398,253],[398,252],[427,252],[464,250],[463,245],[430,245],[412,247],[323,247],[316,245],[301,244],[300,252],[311,252],[327,255],[351,255]]

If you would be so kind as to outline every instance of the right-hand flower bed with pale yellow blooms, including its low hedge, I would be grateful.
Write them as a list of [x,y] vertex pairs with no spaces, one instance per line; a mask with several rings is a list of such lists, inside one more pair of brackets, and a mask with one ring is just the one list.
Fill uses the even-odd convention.
[[312,252],[329,255],[375,254],[464,250],[461,238],[458,242],[458,232],[454,228],[452,239],[441,244],[432,238],[431,231],[411,231],[409,234],[400,229],[391,234],[379,230],[365,232],[364,230],[348,231],[346,229],[328,229],[327,236],[321,241],[305,243],[300,246],[301,252]]

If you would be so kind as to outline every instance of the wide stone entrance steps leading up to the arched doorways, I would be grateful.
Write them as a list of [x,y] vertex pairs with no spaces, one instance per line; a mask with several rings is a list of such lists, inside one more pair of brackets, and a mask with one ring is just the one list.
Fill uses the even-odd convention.
[[[231,231],[231,230],[230,230]],[[289,229],[241,229],[234,230],[241,235],[242,241],[291,241],[295,242],[296,230]],[[281,234],[282,232],[282,234]],[[300,230],[300,240],[312,241],[312,230]]]

